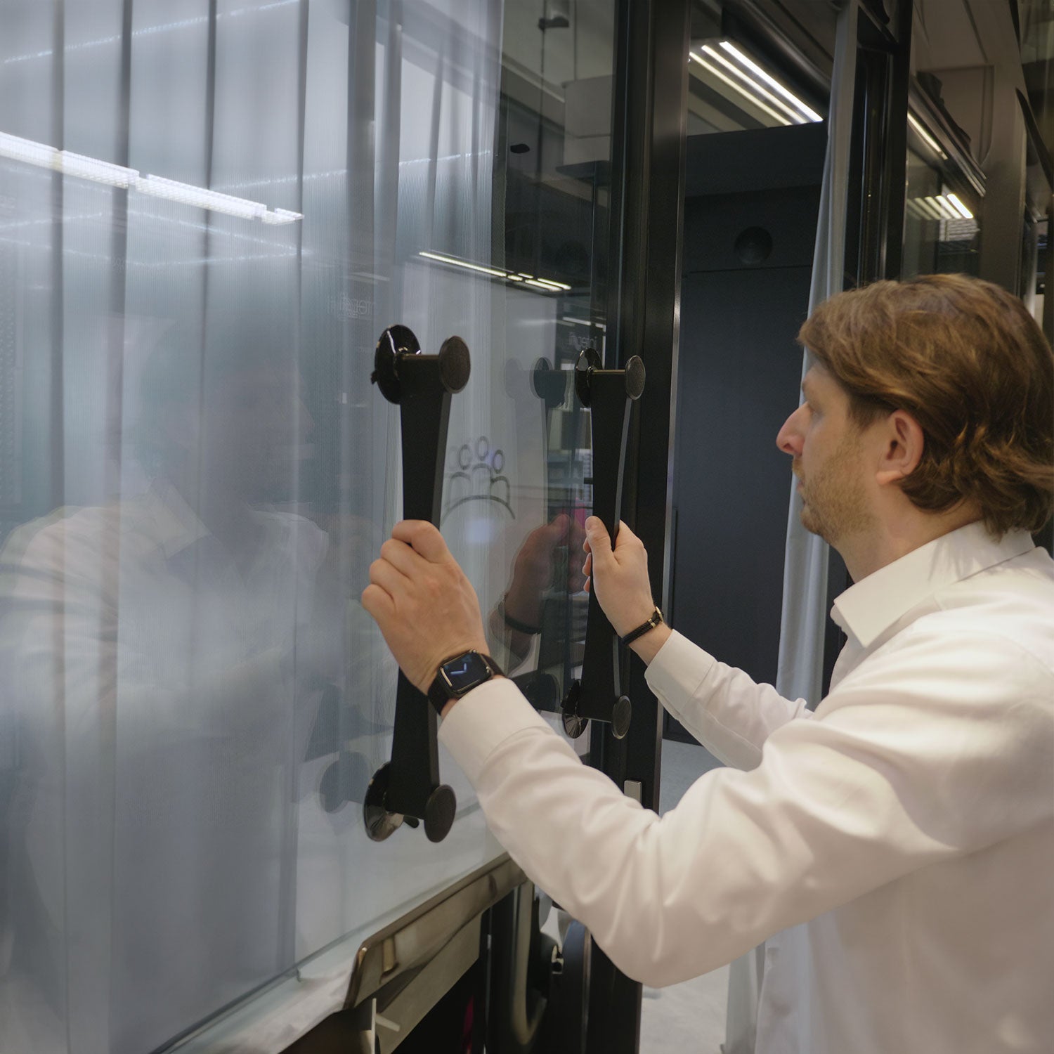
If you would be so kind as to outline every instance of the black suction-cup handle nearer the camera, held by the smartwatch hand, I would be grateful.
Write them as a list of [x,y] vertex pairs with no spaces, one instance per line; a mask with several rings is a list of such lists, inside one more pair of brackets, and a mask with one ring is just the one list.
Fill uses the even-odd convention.
[[[438,526],[450,397],[468,384],[469,352],[460,336],[425,355],[413,331],[391,326],[380,334],[370,380],[399,408],[403,441],[403,518]],[[440,783],[436,714],[401,669],[391,761],[370,780],[363,803],[367,834],[384,841],[406,820],[424,820],[428,840],[441,842],[454,822],[457,800]]]

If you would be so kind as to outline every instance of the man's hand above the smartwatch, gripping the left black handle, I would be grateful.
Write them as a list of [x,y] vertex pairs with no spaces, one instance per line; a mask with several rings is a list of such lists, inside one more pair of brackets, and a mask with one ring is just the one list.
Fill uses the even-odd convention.
[[363,606],[422,691],[445,660],[487,650],[475,590],[438,529],[424,520],[395,525],[380,559],[370,565]]

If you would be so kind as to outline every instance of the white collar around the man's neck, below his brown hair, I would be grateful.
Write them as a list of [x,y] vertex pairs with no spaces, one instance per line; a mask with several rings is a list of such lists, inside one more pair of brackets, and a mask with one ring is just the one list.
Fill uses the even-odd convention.
[[868,574],[836,601],[831,617],[863,647],[938,590],[1033,548],[1028,531],[996,542],[981,522],[943,534]]

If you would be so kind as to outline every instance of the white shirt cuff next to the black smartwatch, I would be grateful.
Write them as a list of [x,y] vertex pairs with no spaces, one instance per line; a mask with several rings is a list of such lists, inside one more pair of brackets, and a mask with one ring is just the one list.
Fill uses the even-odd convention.
[[525,728],[557,734],[506,677],[492,678],[463,696],[440,725],[440,742],[475,785],[495,747]]

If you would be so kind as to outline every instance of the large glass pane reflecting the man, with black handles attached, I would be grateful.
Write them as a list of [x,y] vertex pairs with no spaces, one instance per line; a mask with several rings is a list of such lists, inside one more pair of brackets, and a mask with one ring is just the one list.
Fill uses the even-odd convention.
[[[357,941],[500,856],[442,757],[445,841],[364,828],[396,671],[358,597],[402,494],[370,374],[389,325],[466,340],[443,531],[554,707],[614,35],[573,6],[0,0],[5,1054],[142,1054],[232,1009],[280,1050]],[[280,984],[302,1027],[253,1032]]]

